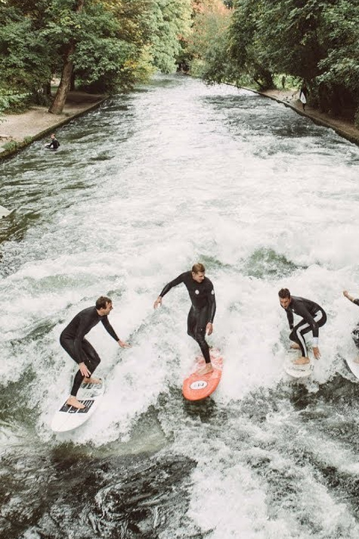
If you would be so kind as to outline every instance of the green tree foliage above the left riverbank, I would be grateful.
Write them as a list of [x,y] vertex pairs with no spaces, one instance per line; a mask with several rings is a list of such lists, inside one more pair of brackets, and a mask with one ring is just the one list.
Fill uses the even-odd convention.
[[83,86],[131,88],[175,70],[190,24],[191,0],[1,0],[0,86],[45,101],[71,50]]

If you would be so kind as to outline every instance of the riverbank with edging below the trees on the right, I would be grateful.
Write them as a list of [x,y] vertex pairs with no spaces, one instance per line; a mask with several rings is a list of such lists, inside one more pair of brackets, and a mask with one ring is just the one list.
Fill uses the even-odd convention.
[[246,90],[258,93],[258,95],[263,95],[264,97],[269,97],[271,100],[289,106],[296,113],[311,118],[318,125],[333,129],[341,137],[359,145],[359,129],[354,126],[353,122],[349,122],[349,120],[343,118],[333,117],[327,113],[321,113],[318,109],[312,108],[309,105],[306,105],[305,111],[303,111],[302,102],[299,100],[299,91],[275,89],[259,92],[253,90],[253,88],[246,88]]

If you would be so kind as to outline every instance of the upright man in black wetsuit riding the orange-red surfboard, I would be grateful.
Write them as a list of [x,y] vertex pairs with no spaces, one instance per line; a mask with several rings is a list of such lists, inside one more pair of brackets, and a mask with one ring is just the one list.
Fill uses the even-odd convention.
[[206,334],[211,335],[213,332],[213,319],[215,317],[215,291],[211,281],[204,276],[205,272],[203,264],[193,265],[191,272],[182,273],[171,283],[168,283],[153,305],[155,309],[158,305],[162,305],[163,296],[174,286],[184,283],[192,302],[188,312],[187,333],[200,345],[204,361],[206,361],[206,366],[200,371],[202,375],[213,370],[205,337]]

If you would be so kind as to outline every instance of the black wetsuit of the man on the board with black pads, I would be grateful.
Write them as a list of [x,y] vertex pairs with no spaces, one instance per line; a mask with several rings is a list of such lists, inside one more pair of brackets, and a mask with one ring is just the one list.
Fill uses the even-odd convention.
[[[84,362],[91,374],[99,365],[101,359],[99,359],[99,355],[95,348],[93,348],[93,346],[91,346],[85,339],[85,335],[100,321],[104,324],[104,327],[110,336],[113,337],[115,341],[119,341],[117,334],[108,321],[108,317],[106,315],[99,316],[95,307],[88,307],[79,312],[60,335],[60,344],[62,348],[66,350],[76,363]],[[84,376],[81,375],[81,371],[78,370],[71,390],[72,397],[76,397],[83,379]]]

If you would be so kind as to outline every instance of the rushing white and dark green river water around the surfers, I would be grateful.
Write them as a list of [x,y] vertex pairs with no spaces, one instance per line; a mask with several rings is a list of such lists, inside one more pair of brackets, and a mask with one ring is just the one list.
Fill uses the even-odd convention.
[[[359,535],[359,149],[291,109],[182,76],[108,100],[1,163],[0,530],[6,539]],[[215,285],[213,398],[186,403],[196,261]],[[284,374],[278,290],[327,311],[311,379]],[[101,410],[50,421],[75,372],[59,334],[97,296]],[[101,325],[101,324],[100,324]]]

